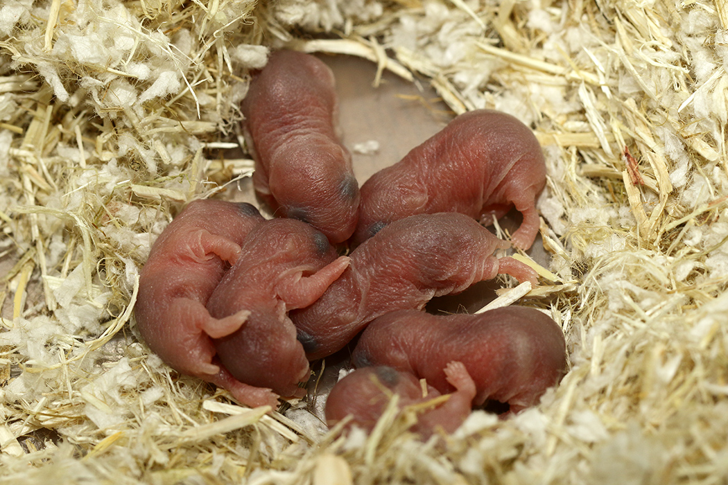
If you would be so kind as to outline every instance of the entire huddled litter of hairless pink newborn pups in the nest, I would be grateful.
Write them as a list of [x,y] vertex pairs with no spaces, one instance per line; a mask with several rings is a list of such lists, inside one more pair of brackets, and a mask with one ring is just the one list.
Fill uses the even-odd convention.
[[[405,402],[447,395],[422,414],[423,435],[436,425],[454,430],[488,400],[518,412],[561,379],[563,334],[537,310],[449,317],[422,311],[432,297],[498,273],[536,284],[528,265],[494,256],[510,244],[478,223],[515,205],[523,223],[513,244],[533,243],[545,164],[528,127],[495,111],[458,116],[371,177],[360,197],[336,137],[333,75],[320,60],[274,53],[242,109],[258,197],[289,218],[264,220],[250,204],[196,201],[162,233],[141,274],[136,318],[167,364],[244,404],[275,406],[278,396],[303,395],[298,383],[309,375],[309,360],[331,355],[366,328],[353,359],[354,374],[365,377],[334,387],[327,416],[336,422],[371,414],[364,427],[376,420],[376,409],[337,404],[351,401],[347,387],[360,394],[386,388],[382,396],[401,393]],[[337,258],[332,244],[347,240],[355,249]],[[403,348],[375,352],[367,343],[408,332],[421,344],[435,326],[446,329],[433,337],[442,345],[408,354],[410,364],[415,356],[426,362],[427,372],[405,369],[397,360],[405,358]],[[450,340],[452,332],[460,340]],[[467,335],[476,343],[462,342]],[[376,367],[362,372],[368,366]],[[419,379],[427,388],[415,385]]]

